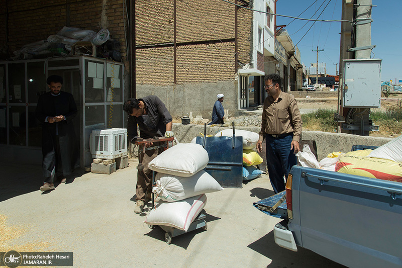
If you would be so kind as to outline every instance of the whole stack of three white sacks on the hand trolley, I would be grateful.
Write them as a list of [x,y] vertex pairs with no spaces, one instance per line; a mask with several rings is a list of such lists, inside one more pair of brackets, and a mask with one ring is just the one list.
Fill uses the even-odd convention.
[[177,144],[155,157],[149,163],[149,168],[158,172],[152,192],[161,201],[151,210],[145,223],[187,231],[205,207],[205,193],[223,190],[215,178],[203,170],[208,161],[208,152],[194,143]]

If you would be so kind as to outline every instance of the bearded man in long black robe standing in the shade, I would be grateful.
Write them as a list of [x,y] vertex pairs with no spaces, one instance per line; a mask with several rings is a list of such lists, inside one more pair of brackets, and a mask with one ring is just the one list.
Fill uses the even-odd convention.
[[74,160],[75,133],[72,119],[77,114],[77,106],[71,94],[61,91],[63,78],[50,75],[47,80],[50,91],[41,95],[35,116],[42,123],[42,170],[44,185],[42,192],[54,189],[56,175],[71,174]]

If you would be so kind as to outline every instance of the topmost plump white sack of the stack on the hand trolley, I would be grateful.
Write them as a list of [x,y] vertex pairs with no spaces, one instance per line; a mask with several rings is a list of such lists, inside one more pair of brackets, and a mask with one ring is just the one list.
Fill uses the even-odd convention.
[[180,143],[155,157],[149,163],[149,168],[161,173],[189,177],[204,169],[209,160],[208,152],[202,145]]

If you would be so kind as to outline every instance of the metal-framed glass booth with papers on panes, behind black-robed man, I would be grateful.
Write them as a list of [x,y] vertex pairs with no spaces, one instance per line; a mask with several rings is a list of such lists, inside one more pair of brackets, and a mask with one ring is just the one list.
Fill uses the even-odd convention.
[[49,90],[46,77],[63,77],[78,115],[74,127],[80,167],[90,164],[93,129],[123,128],[124,64],[87,56],[0,61],[0,148],[2,160],[38,164],[42,159],[41,126],[35,118],[39,96]]

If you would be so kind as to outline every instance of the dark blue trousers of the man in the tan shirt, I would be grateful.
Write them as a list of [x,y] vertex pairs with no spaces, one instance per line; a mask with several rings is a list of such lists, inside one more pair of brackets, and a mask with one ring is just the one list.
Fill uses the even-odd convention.
[[297,164],[294,150],[290,150],[292,138],[292,133],[281,138],[274,138],[269,134],[265,136],[269,180],[275,194],[285,190],[283,176],[287,180],[290,168]]

